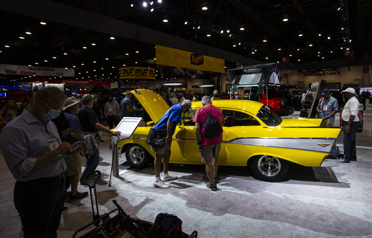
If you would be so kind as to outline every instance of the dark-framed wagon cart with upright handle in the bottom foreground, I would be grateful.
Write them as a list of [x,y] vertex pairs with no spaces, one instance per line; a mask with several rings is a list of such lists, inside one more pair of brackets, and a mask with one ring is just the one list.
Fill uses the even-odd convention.
[[[89,186],[90,201],[92,203],[93,221],[83,226],[82,228],[78,229],[74,233],[73,238],[75,238],[79,232],[83,231],[84,229],[92,225],[96,227],[88,231],[87,233],[81,235],[79,238],[122,238],[122,237],[147,238],[148,232],[150,231],[150,228],[153,225],[153,223],[137,218],[131,218],[128,214],[124,212],[124,210],[121,208],[121,206],[115,199],[112,200],[112,202],[115,204],[116,208],[108,213],[99,215],[96,182],[100,177],[101,172],[98,170],[81,176],[80,182],[84,185]],[[92,188],[94,190],[97,213],[94,212]],[[110,218],[110,214],[114,212],[118,212],[118,214]],[[191,235],[187,235],[184,232],[182,232],[181,234],[181,238],[197,237],[198,237],[197,231],[193,231]]]

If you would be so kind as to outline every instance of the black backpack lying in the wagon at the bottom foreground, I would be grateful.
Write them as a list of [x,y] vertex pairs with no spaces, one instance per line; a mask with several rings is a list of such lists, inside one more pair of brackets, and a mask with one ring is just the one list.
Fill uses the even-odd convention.
[[182,221],[175,215],[159,213],[151,226],[147,238],[180,238]]

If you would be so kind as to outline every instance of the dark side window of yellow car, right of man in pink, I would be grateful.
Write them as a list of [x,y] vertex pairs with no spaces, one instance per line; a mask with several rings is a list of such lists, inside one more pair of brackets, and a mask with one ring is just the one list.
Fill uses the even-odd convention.
[[247,113],[234,110],[221,110],[225,118],[224,127],[261,125],[254,117]]

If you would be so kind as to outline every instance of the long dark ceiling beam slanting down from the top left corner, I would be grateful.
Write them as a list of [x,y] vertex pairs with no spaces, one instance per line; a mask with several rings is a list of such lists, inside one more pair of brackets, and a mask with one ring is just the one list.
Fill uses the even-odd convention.
[[34,17],[36,19],[44,19],[51,22],[82,27],[141,42],[195,52],[232,62],[240,62],[245,65],[261,63],[255,59],[247,58],[225,50],[205,46],[190,40],[178,38],[176,36],[157,32],[155,30],[122,22],[92,12],[87,12],[54,1],[38,0],[37,3],[38,4],[35,4],[33,1],[26,0],[2,0],[0,3],[0,9],[7,12]]

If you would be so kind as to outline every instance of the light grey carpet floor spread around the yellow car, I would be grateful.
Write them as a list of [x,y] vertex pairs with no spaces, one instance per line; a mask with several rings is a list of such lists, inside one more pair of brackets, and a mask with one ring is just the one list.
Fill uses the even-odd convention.
[[[200,165],[170,164],[170,175],[179,179],[170,181],[169,189],[154,188],[152,165],[112,177],[112,186],[108,187],[111,151],[109,137],[103,134],[105,142],[100,144],[98,167],[102,179],[97,183],[99,212],[115,209],[112,200],[116,199],[132,217],[154,221],[158,213],[168,212],[182,219],[187,234],[197,230],[198,237],[208,238],[370,238],[372,107],[368,106],[363,133],[357,133],[357,146],[368,148],[357,149],[358,162],[331,168],[292,165],[288,176],[279,183],[254,179],[248,167],[220,166],[216,192],[206,188],[205,169]],[[338,144],[342,144],[342,133],[340,137]],[[84,166],[85,159],[82,161]],[[15,180],[2,154],[0,172],[1,237],[22,237],[13,204]],[[88,188],[79,185],[78,190]],[[65,206],[68,211],[62,215],[58,237],[71,238],[78,228],[92,221],[90,198]]]

